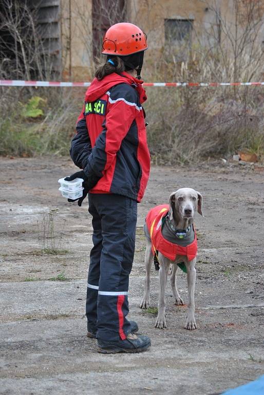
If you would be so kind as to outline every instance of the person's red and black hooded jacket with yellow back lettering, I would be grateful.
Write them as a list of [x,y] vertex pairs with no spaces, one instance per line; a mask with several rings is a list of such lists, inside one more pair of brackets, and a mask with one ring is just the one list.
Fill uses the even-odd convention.
[[127,73],[95,78],[85,95],[70,155],[94,185],[141,201],[149,176],[142,82]]

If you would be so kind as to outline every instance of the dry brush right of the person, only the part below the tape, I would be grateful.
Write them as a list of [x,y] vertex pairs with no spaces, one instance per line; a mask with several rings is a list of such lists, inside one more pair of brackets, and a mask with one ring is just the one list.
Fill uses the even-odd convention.
[[221,87],[220,94],[214,88],[152,89],[147,91],[145,107],[150,119],[148,142],[156,163],[191,163],[208,156],[230,156],[242,148],[258,155],[263,151],[260,89],[249,90],[247,102],[244,87],[238,91],[241,100],[228,99],[232,87]]

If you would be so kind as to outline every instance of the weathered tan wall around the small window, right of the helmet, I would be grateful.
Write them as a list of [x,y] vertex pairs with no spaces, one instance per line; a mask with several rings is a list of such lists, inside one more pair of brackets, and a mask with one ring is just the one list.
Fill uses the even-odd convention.
[[[259,12],[263,14],[264,1],[259,1]],[[257,4],[257,2],[255,2]],[[242,20],[241,15],[246,15],[249,2],[237,3],[240,13],[238,23]],[[248,5],[247,5],[248,4]],[[195,36],[203,35],[205,29],[217,26],[216,11],[221,18],[229,24],[230,28],[235,25],[235,13],[233,0],[130,0],[128,2],[128,16],[131,22],[138,24],[149,35],[149,49],[159,48],[164,45],[164,19],[186,19],[193,21]],[[256,11],[255,11],[256,12]],[[256,18],[258,15],[255,15]],[[259,37],[263,40],[263,37]]]

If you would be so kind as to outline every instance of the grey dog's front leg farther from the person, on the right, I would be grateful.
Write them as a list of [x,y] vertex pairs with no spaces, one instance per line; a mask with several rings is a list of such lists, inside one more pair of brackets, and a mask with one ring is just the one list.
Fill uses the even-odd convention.
[[186,317],[184,328],[190,330],[197,329],[197,325],[194,317],[194,311],[195,311],[194,289],[195,289],[195,279],[196,279],[195,262],[196,262],[196,258],[186,264],[189,303],[188,303],[187,317]]

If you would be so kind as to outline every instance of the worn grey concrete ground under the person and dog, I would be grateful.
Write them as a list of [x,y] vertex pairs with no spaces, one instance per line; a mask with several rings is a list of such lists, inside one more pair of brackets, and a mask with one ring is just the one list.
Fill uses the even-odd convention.
[[[58,191],[57,180],[76,168],[68,159],[52,157],[1,158],[0,167],[0,394],[209,395],[263,374],[263,173],[220,162],[152,167],[138,206],[129,286],[129,317],[138,322],[140,333],[151,337],[152,348],[141,354],[103,355],[96,340],[85,336],[92,245],[87,203],[82,208],[70,205]],[[184,186],[204,197],[205,218],[197,215],[195,221],[198,329],[183,329],[186,306],[173,304],[167,284],[167,329],[159,330],[154,328],[154,266],[154,309],[139,308],[142,226],[150,207],[166,203],[172,191]],[[52,224],[54,235],[49,237]],[[179,273],[178,288],[186,303],[185,276]]]

